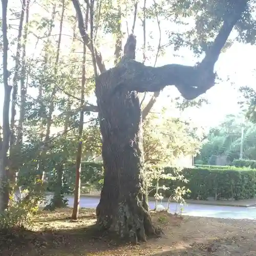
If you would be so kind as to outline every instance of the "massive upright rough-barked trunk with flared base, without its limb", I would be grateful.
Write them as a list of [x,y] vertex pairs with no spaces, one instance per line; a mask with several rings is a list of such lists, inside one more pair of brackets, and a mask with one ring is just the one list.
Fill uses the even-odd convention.
[[112,84],[105,79],[96,83],[104,164],[97,220],[123,238],[145,241],[156,229],[145,193],[139,98],[136,92],[122,92],[113,100]]

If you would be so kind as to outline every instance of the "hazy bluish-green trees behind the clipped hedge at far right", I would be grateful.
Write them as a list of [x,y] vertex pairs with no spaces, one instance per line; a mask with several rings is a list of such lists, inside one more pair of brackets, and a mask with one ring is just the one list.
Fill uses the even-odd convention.
[[218,165],[217,159],[222,158],[224,159],[222,165],[231,164],[234,159],[240,158],[241,144],[243,144],[243,158],[254,160],[256,159],[255,135],[256,129],[253,123],[244,122],[239,116],[227,116],[223,123],[209,131],[196,163],[200,160],[203,164]]

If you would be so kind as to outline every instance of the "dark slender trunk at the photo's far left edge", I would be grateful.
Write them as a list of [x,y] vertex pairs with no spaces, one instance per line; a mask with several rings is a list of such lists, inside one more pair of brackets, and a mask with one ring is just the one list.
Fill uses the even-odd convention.
[[9,179],[7,174],[8,150],[10,146],[10,121],[9,110],[11,101],[12,87],[8,84],[9,71],[7,68],[8,59],[8,38],[7,38],[7,6],[8,0],[2,0],[2,34],[3,34],[3,83],[5,89],[4,108],[3,108],[3,142],[0,151],[0,212],[8,207],[9,204]]

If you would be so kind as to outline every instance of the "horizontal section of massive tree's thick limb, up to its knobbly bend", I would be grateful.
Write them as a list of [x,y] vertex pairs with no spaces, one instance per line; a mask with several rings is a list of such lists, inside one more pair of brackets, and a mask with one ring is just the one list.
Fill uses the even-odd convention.
[[[109,74],[111,72],[111,75]],[[215,73],[204,66],[184,66],[169,64],[162,67],[147,67],[135,60],[126,60],[109,72],[102,73],[100,79],[116,84],[113,94],[128,90],[137,92],[158,92],[166,86],[176,86],[185,99],[194,99],[215,84]],[[96,83],[97,83],[96,79]]]

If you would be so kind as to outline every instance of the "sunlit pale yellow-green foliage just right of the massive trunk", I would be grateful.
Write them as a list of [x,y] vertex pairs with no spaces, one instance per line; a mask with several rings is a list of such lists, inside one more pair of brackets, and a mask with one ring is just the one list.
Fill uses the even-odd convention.
[[192,123],[178,118],[150,115],[143,123],[145,163],[174,165],[177,159],[196,155],[202,140],[198,130]]

